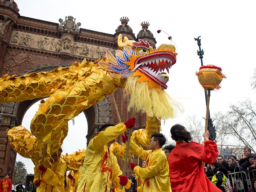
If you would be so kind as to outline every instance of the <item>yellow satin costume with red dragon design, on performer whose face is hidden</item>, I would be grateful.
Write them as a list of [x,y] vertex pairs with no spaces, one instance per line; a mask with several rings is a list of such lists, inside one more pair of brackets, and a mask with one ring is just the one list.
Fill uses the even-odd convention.
[[[108,142],[116,139],[126,130],[123,123],[110,126],[90,140],[84,157],[84,165],[80,176],[77,192],[109,192],[113,186],[115,192],[121,190],[119,175],[122,171],[116,156],[108,148]],[[131,183],[124,186],[131,187]]]

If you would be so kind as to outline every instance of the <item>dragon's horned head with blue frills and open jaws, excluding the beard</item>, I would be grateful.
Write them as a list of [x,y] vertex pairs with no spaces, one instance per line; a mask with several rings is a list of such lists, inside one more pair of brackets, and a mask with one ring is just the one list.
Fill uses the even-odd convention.
[[126,36],[122,42],[122,34],[118,36],[116,58],[106,50],[106,57],[109,62],[100,62],[102,66],[112,72],[121,73],[122,76],[137,76],[138,82],[148,82],[148,88],[156,88],[158,91],[166,89],[168,75],[164,72],[176,63],[175,47],[162,44],[155,50],[148,42],[143,40],[132,41]]

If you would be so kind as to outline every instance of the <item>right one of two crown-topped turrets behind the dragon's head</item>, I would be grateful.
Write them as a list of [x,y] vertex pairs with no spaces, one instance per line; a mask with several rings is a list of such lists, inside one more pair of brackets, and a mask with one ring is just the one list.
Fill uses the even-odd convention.
[[151,31],[148,30],[149,23],[146,21],[142,22],[141,24],[142,30],[137,35],[137,39],[142,39],[147,41],[153,48],[156,48],[156,39],[154,38]]

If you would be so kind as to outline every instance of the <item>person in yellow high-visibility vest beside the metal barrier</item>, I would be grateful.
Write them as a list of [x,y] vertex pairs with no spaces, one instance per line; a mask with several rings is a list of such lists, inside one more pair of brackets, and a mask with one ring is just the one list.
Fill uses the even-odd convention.
[[228,175],[227,170],[223,164],[218,163],[217,161],[211,164],[211,168],[214,173],[212,177],[212,183],[216,185],[216,187],[218,187],[221,191],[226,192],[223,182],[226,181],[226,176]]

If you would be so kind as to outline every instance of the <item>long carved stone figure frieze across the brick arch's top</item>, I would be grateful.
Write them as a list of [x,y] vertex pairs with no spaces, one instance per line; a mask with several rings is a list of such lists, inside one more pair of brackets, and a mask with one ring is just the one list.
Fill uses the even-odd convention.
[[[52,52],[68,52],[77,56],[102,59],[106,55],[106,48],[75,42],[69,36],[61,39],[49,38],[26,32],[13,31],[10,44],[31,47]],[[108,49],[115,56],[114,49]]]

